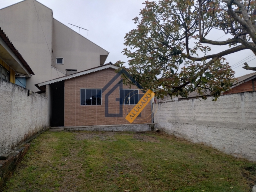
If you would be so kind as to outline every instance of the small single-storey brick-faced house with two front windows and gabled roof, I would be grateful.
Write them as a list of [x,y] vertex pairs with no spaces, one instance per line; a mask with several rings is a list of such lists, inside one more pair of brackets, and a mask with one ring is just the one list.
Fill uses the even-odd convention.
[[[116,69],[106,64],[36,84],[50,96],[50,126],[130,124],[125,117],[144,94],[136,86],[123,85]],[[152,102],[133,123],[152,123],[151,112]]]

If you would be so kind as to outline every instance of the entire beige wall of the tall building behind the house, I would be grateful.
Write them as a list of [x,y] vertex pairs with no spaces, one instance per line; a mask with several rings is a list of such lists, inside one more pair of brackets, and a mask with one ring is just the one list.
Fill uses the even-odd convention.
[[[34,71],[26,86],[32,91],[40,91],[34,86],[37,83],[64,76],[66,69],[79,72],[97,67],[100,55],[108,55],[108,51],[55,20],[52,10],[36,0],[1,9],[0,27]],[[64,65],[55,65],[56,56],[64,58]]]

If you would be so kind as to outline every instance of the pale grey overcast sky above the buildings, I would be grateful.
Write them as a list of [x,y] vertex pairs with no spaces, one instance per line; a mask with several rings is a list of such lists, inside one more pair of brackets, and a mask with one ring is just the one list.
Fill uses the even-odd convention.
[[[144,0],[38,0],[40,3],[53,10],[53,16],[56,20],[68,25],[68,23],[83,26],[89,31],[80,30],[80,34],[98,46],[106,49],[109,53],[106,63],[111,61],[115,63],[118,60],[127,62],[128,59],[123,55],[124,36],[130,30],[136,28],[132,21],[135,16],[139,16],[140,9],[144,7]],[[0,8],[10,6],[20,0],[0,0]],[[69,27],[72,27],[68,25]],[[78,32],[78,29],[72,29]],[[217,31],[211,34],[212,40],[222,37],[224,33]],[[228,36],[218,39],[226,40]],[[220,51],[221,48],[213,48]],[[251,55],[249,50],[240,51],[226,56],[230,66],[239,63],[242,59]],[[256,67],[256,58],[254,55],[247,60],[241,61],[234,68],[235,76],[239,77],[254,71],[242,69],[242,63],[245,61],[252,67]],[[250,61],[251,59],[254,59]]]

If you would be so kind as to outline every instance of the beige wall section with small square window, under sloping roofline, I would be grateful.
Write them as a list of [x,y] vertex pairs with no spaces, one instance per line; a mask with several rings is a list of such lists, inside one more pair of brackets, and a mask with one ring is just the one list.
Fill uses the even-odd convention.
[[108,55],[108,51],[79,35],[61,22],[53,20],[53,57],[64,58],[64,65],[53,65],[63,73],[66,69],[77,72],[100,65],[100,55]]

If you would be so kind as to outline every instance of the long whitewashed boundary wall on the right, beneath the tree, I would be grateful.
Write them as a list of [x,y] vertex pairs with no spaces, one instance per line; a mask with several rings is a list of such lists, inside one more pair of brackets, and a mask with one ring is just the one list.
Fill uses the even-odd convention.
[[256,92],[200,100],[155,104],[154,123],[166,133],[256,161]]

